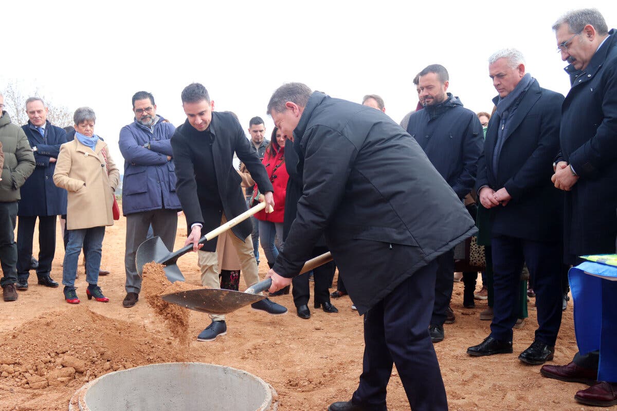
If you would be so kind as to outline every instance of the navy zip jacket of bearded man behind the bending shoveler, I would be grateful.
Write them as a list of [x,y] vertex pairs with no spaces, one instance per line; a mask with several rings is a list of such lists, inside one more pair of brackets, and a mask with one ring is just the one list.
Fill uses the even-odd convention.
[[458,198],[468,195],[476,182],[476,163],[484,144],[476,113],[448,93],[444,102],[424,107],[409,117],[407,132],[416,139]]

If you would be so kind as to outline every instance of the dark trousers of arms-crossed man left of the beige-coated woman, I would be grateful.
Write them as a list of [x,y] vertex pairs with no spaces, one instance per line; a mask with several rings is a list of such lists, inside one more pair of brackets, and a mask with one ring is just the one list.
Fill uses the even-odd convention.
[[36,219],[39,219],[39,266],[37,275],[48,275],[56,254],[57,216],[19,216],[17,220],[17,277],[28,279]]

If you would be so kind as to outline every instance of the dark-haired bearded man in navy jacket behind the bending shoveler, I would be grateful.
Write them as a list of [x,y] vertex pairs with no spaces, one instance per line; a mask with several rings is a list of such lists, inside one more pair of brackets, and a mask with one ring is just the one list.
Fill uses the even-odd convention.
[[[462,200],[476,182],[476,163],[482,151],[482,124],[476,113],[463,107],[447,92],[448,71],[431,64],[418,73],[420,100],[424,110],[412,113],[407,132],[416,139],[433,166]],[[454,250],[437,258],[435,304],[429,333],[434,343],[444,339],[444,322],[450,311],[454,275]],[[478,273],[475,273],[476,277]],[[475,279],[474,279],[475,281]],[[475,287],[475,283],[473,283]]]

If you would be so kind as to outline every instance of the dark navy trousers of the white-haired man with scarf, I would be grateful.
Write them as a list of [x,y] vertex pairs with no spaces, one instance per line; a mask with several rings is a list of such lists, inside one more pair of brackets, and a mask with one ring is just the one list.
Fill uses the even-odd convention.
[[561,325],[560,242],[537,242],[499,236],[492,238],[495,303],[491,336],[512,341],[521,304],[521,271],[526,264],[534,280],[538,328],[535,340],[555,345]]

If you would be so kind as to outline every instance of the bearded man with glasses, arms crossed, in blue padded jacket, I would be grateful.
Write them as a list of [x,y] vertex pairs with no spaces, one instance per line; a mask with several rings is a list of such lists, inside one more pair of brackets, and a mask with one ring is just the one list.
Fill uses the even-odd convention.
[[156,113],[154,96],[147,91],[133,95],[133,123],[120,130],[120,151],[124,157],[122,212],[126,216],[126,296],[122,305],[133,307],[139,299],[141,278],[135,267],[135,253],[146,240],[152,225],[154,235],[169,250],[178,228],[180,200],[176,196],[176,175],[170,139],[175,127]]

